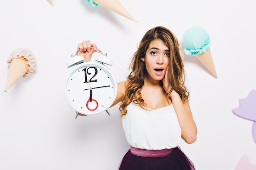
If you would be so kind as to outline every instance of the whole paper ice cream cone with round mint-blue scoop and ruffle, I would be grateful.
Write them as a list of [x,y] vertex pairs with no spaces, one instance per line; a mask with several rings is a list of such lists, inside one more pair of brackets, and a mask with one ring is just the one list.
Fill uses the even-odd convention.
[[200,26],[192,26],[183,36],[186,55],[196,56],[202,64],[218,78],[210,51],[211,40],[209,34]]

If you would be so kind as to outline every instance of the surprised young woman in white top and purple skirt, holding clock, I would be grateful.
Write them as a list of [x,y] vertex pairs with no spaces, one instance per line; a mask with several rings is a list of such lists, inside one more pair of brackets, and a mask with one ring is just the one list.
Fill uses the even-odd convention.
[[[78,45],[85,61],[100,52],[96,44]],[[197,128],[184,85],[182,49],[177,38],[163,26],[150,29],[139,43],[131,72],[118,83],[115,104],[119,110],[130,150],[119,170],[195,170],[178,142],[196,140]]]

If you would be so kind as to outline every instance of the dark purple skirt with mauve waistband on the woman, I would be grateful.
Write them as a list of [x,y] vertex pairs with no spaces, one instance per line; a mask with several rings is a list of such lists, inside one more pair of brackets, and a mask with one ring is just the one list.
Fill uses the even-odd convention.
[[195,170],[195,167],[179,146],[156,151],[131,147],[118,170]]

